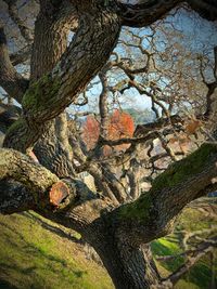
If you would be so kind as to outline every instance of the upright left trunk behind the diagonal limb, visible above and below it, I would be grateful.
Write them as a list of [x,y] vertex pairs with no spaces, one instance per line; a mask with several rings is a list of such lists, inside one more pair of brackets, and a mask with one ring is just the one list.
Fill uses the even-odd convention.
[[[41,3],[35,23],[35,41],[30,65],[31,80],[37,80],[53,69],[66,50],[69,29],[74,30],[76,27],[77,14],[69,3],[65,8],[61,3],[55,6],[50,1]],[[61,122],[60,119],[64,118],[63,115],[50,121],[47,130],[34,147],[39,162],[59,178],[74,174],[67,132],[63,126],[58,126]],[[56,130],[55,127],[61,128]],[[64,141],[61,140],[61,134],[65,134]]]

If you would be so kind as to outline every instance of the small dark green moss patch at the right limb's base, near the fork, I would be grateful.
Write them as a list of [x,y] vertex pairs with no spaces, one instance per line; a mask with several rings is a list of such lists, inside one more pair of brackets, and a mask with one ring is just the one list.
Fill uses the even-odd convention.
[[132,219],[138,221],[148,221],[152,198],[149,193],[142,194],[136,201],[124,205],[119,208],[118,215],[122,219]]

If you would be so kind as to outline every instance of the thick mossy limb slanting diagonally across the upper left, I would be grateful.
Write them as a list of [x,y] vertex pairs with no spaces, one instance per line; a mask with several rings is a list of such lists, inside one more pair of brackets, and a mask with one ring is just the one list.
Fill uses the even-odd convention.
[[119,18],[97,4],[89,9],[92,13],[82,12],[79,29],[60,63],[29,87],[23,100],[24,118],[11,128],[4,146],[22,152],[33,146],[44,123],[75,101],[110,57],[120,30]]

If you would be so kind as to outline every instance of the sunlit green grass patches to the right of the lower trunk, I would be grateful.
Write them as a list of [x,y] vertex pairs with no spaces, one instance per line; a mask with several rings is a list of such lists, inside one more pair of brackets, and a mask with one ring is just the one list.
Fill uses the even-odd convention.
[[[200,231],[210,227],[216,224],[217,215],[205,218],[204,214],[197,209],[187,208],[179,219],[177,232],[184,229],[188,232]],[[180,234],[170,234],[165,238],[161,238],[151,244],[154,255],[174,255],[180,253]],[[217,254],[216,254],[217,257]],[[177,270],[184,259],[177,257],[173,261],[157,262],[159,272],[163,276],[168,276],[171,272]],[[215,264],[215,272],[217,273],[217,258]],[[175,286],[176,289],[209,289],[212,279],[210,260],[209,257],[202,258],[189,273],[187,273],[181,280]],[[217,276],[215,276],[217,284]]]

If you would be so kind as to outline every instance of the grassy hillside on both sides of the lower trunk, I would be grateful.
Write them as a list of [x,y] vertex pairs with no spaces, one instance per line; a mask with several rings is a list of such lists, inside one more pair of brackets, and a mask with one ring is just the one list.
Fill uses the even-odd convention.
[[[208,215],[204,214],[201,207]],[[179,231],[199,231],[216,224],[216,209],[215,203],[205,205],[205,209],[201,205],[193,209],[187,208],[180,218],[176,234],[152,244],[155,257],[181,252]],[[105,270],[92,261],[87,250],[84,250],[79,235],[71,234],[34,212],[0,215],[0,288],[114,288]],[[73,238],[73,241],[69,238]],[[178,257],[173,261],[157,264],[161,273],[166,276],[182,261],[183,259]],[[217,272],[217,264],[213,270]],[[210,259],[206,257],[190,270],[176,288],[209,289],[210,280]]]

